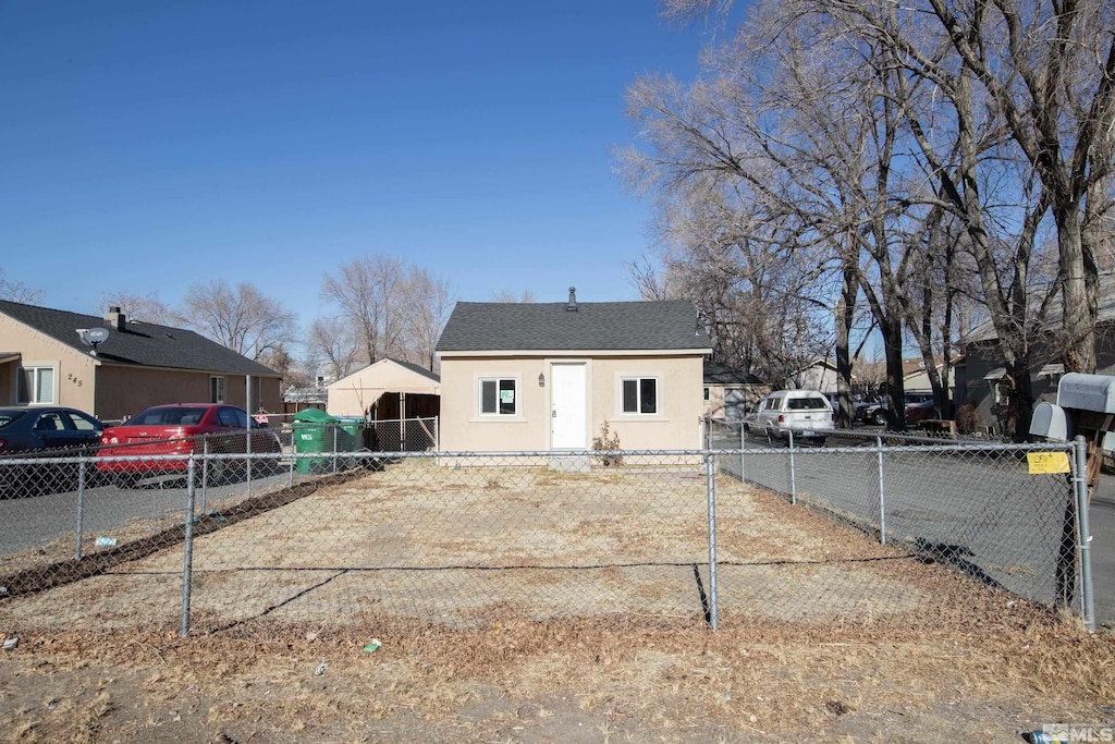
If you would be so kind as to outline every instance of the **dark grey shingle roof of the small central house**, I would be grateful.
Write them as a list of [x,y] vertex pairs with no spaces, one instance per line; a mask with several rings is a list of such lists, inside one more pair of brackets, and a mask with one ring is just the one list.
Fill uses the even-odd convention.
[[457,302],[438,351],[710,349],[687,300]]

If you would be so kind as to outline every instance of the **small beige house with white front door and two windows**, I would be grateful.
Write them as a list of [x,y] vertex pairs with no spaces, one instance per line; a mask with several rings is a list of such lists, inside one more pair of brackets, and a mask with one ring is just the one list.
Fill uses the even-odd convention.
[[569,451],[604,422],[624,450],[700,447],[696,308],[653,302],[458,302],[437,342],[440,448]]

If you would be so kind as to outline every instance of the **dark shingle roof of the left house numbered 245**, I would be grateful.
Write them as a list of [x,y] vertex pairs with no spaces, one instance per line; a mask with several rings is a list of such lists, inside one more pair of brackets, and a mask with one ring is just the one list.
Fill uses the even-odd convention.
[[[77,329],[106,327],[104,318],[97,316],[6,300],[0,300],[0,313],[84,352],[89,347],[81,342]],[[128,321],[122,331],[110,329],[108,339],[97,347],[97,358],[142,367],[279,377],[275,370],[194,331],[147,322]]]

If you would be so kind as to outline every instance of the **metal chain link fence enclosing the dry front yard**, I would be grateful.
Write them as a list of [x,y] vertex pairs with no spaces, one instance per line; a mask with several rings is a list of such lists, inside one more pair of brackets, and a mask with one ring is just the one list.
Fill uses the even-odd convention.
[[[738,424],[710,437],[681,452],[203,448],[132,484],[90,481],[104,456],[0,460],[64,473],[0,500],[0,630],[918,626],[1016,606],[1092,619],[1080,451],[753,446]],[[1034,453],[1074,470],[1032,475]]]

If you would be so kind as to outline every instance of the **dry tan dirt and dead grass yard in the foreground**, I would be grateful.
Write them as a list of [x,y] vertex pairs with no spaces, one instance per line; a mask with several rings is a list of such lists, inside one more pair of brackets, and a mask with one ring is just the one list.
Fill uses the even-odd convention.
[[[446,555],[478,553],[485,529],[498,525],[501,544],[527,571],[585,551],[537,525],[516,534],[504,519],[512,512],[498,504],[556,510],[570,535],[592,538],[592,560],[611,552],[637,562],[666,537],[676,541],[670,555],[688,558],[700,545],[699,504],[650,510],[650,522],[631,528],[633,514],[648,511],[634,509],[646,502],[631,491],[617,509],[588,503],[586,491],[600,496],[623,485],[614,475],[581,477],[573,493],[576,479],[545,473],[442,474],[437,500],[430,477],[400,467],[323,483],[204,535],[195,555],[201,619],[188,638],[178,636],[167,601],[181,593],[173,573],[181,548],[3,600],[0,636],[19,644],[0,651],[0,740],[1019,742],[1043,723],[1115,721],[1115,638],[731,482],[718,482],[718,521],[734,537],[721,540],[723,588],[733,601],[716,631],[699,610],[680,611],[692,587],[682,588],[676,567],[627,574],[644,583],[620,611],[588,595],[580,615],[547,615],[536,592],[484,602],[467,596],[469,621],[448,624],[408,617],[404,601],[358,601],[385,586],[375,581],[403,586],[380,578],[382,567],[346,573],[343,589],[340,580],[322,588],[320,577],[298,578],[312,573],[307,562],[348,557],[365,566],[374,557],[359,547],[369,541],[428,537],[400,532],[404,522],[385,519],[388,504],[418,510],[410,521],[424,530],[440,525],[436,544]],[[444,480],[452,477],[459,482]],[[416,496],[419,486],[427,491]],[[495,511],[475,523],[445,521],[479,504]],[[337,554],[313,553],[322,532],[308,520],[332,522],[340,512],[346,539],[326,543]],[[661,532],[657,522],[679,513],[692,518],[681,529],[692,534]],[[493,514],[502,516],[493,522]],[[278,550],[274,541],[293,524],[307,542]],[[430,550],[420,560],[436,564]],[[8,560],[6,569],[32,558]],[[245,569],[261,561],[279,570]],[[571,573],[552,579],[560,596],[615,598],[614,587],[598,586],[610,574]],[[282,591],[249,590],[245,576]],[[774,593],[783,584],[788,600]],[[756,593],[745,592],[750,587]],[[792,610],[806,600],[811,612]],[[379,648],[365,650],[374,637]]]

